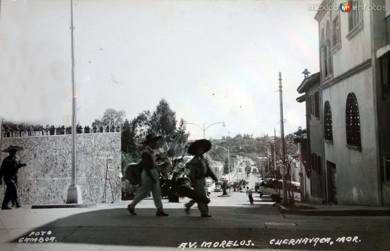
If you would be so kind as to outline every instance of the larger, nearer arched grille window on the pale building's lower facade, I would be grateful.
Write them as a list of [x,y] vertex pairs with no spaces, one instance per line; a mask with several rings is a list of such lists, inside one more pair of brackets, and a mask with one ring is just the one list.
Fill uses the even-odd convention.
[[357,105],[354,93],[348,94],[345,112],[347,144],[360,146],[360,117],[359,106]]

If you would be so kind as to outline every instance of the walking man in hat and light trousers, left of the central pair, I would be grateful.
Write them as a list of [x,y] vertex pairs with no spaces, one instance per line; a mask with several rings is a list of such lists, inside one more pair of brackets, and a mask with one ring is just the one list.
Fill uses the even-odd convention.
[[161,136],[149,134],[146,135],[146,140],[141,142],[141,144],[147,145],[141,155],[142,160],[140,164],[143,167],[141,173],[141,184],[136,196],[133,199],[133,202],[127,206],[127,209],[133,215],[137,215],[137,213],[134,212],[134,208],[136,207],[137,203],[150,192],[152,192],[153,200],[155,201],[155,206],[157,208],[156,216],[169,215],[168,213],[165,213],[162,208],[161,188],[160,182],[158,180],[159,173],[156,163],[158,158],[157,154],[159,154],[156,150],[156,146],[157,141],[160,138]]

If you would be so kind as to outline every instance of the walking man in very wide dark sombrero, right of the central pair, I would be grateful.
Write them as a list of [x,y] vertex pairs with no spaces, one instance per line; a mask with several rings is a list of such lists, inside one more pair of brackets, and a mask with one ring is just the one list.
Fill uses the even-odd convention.
[[[207,196],[205,177],[210,176],[215,182],[218,181],[213,171],[211,171],[207,160],[203,156],[203,154],[210,149],[211,142],[207,139],[196,140],[188,147],[188,153],[195,155],[186,163],[186,167],[190,169],[191,184],[195,191],[204,197]],[[194,199],[185,204],[187,214],[190,212],[190,208],[195,202],[198,205],[201,217],[211,217],[207,204]]]

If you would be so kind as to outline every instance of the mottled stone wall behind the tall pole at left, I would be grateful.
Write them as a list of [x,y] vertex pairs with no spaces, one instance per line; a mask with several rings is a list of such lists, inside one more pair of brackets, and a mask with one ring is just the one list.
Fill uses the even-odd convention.
[[[84,203],[103,201],[107,180],[106,202],[119,202],[120,185],[120,133],[77,135],[77,183],[81,187]],[[27,166],[19,171],[19,198],[22,205],[64,204],[71,184],[72,135],[29,136],[2,138],[1,150],[18,145],[24,151],[17,156]],[[1,161],[7,153],[1,152]],[[112,189],[112,190],[111,190]],[[0,187],[0,199],[4,196],[4,183]]]

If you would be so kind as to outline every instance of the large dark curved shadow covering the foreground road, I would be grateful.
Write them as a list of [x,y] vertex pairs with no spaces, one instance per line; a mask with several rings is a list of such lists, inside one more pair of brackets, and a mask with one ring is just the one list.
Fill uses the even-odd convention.
[[[19,245],[31,245],[34,242],[58,242],[177,249],[182,243],[189,242],[192,244],[196,242],[197,248],[201,248],[203,242],[212,243],[210,248],[222,248],[220,245],[231,241],[230,248],[237,249],[364,250],[367,247],[380,248],[380,245],[370,245],[380,244],[383,238],[383,236],[376,236],[373,233],[369,237],[359,235],[359,238],[364,239],[365,245],[317,243],[314,247],[311,243],[279,246],[270,244],[270,241],[305,237],[330,237],[335,240],[343,234],[350,236],[351,232],[339,231],[335,233],[334,231],[321,230],[313,232],[307,229],[298,231],[291,227],[289,229],[265,227],[265,222],[291,221],[283,218],[272,205],[210,207],[211,218],[200,217],[197,209],[191,209],[190,215],[186,215],[184,209],[166,209],[164,211],[169,213],[170,217],[155,216],[156,209],[136,208],[137,215],[130,215],[125,208],[82,212],[59,218],[32,231],[25,232],[12,242]],[[189,248],[188,245],[186,248]]]

